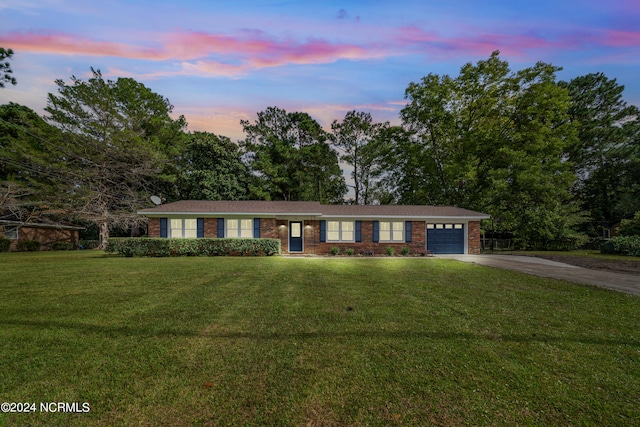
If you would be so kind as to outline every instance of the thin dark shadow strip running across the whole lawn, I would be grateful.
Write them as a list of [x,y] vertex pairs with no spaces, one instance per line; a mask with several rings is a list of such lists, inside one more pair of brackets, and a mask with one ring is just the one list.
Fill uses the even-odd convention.
[[282,340],[315,340],[334,338],[353,339],[427,339],[427,340],[460,340],[460,341],[495,341],[495,342],[541,342],[541,343],[580,343],[604,346],[629,346],[640,348],[640,341],[632,339],[603,339],[588,336],[558,337],[544,334],[500,335],[497,333],[466,333],[466,332],[438,332],[438,331],[343,331],[343,332],[192,332],[183,329],[172,328],[135,328],[129,326],[98,326],[85,323],[57,322],[57,321],[33,321],[33,320],[4,320],[0,325],[28,326],[42,328],[59,328],[76,330],[78,332],[97,333],[108,337],[136,336],[140,338],[152,337],[202,337],[231,340],[256,340],[256,341],[282,341]]

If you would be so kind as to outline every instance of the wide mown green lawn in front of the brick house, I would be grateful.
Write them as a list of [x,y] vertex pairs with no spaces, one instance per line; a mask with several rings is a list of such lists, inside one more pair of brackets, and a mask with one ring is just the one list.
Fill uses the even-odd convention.
[[638,425],[640,298],[433,258],[0,254],[4,425]]

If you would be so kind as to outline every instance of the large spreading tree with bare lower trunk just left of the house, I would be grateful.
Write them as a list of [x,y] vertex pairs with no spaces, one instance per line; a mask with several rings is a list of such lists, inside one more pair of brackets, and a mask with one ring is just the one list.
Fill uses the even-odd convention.
[[169,100],[129,78],[104,80],[99,70],[71,84],[57,80],[49,94],[47,120],[65,132],[58,149],[72,209],[100,228],[100,247],[115,226],[141,221],[159,177],[182,138],[184,118],[172,119]]

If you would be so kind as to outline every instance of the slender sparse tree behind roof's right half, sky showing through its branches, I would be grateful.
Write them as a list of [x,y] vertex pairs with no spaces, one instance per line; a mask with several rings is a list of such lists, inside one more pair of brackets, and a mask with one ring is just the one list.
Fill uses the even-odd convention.
[[373,202],[376,177],[376,159],[378,150],[373,141],[384,126],[389,124],[373,123],[371,114],[349,111],[342,123],[334,120],[332,141],[344,154],[340,160],[349,164],[353,170],[351,178],[354,185],[354,203],[368,205]]

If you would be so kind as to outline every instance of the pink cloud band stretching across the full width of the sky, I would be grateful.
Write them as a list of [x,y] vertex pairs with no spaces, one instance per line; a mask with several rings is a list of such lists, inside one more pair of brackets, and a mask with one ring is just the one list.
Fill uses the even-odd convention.
[[[464,35],[445,36],[419,27],[403,27],[378,34],[358,44],[322,39],[278,40],[260,31],[235,35],[194,31],[151,34],[152,45],[143,42],[101,41],[73,34],[0,33],[0,45],[18,52],[56,55],[110,56],[147,61],[173,61],[172,67],[156,69],[146,77],[213,75],[239,77],[251,71],[288,64],[329,64],[339,60],[380,59],[388,56],[428,55],[449,58],[486,56],[494,50],[504,55],[529,56],[544,50],[560,52],[589,46],[635,48],[640,32],[633,30],[557,29],[553,36],[484,32],[467,28]],[[517,30],[514,30],[517,32]],[[547,32],[553,34],[553,29]],[[158,67],[156,67],[158,68]]]

